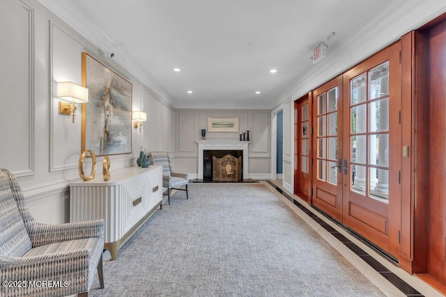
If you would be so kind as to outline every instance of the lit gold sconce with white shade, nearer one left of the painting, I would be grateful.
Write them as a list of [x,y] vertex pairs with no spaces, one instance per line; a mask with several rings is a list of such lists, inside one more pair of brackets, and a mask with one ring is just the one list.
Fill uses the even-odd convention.
[[57,97],[71,101],[71,103],[59,101],[59,113],[70,115],[72,122],[75,122],[77,104],[89,102],[89,89],[70,81],[63,81],[57,83]]

